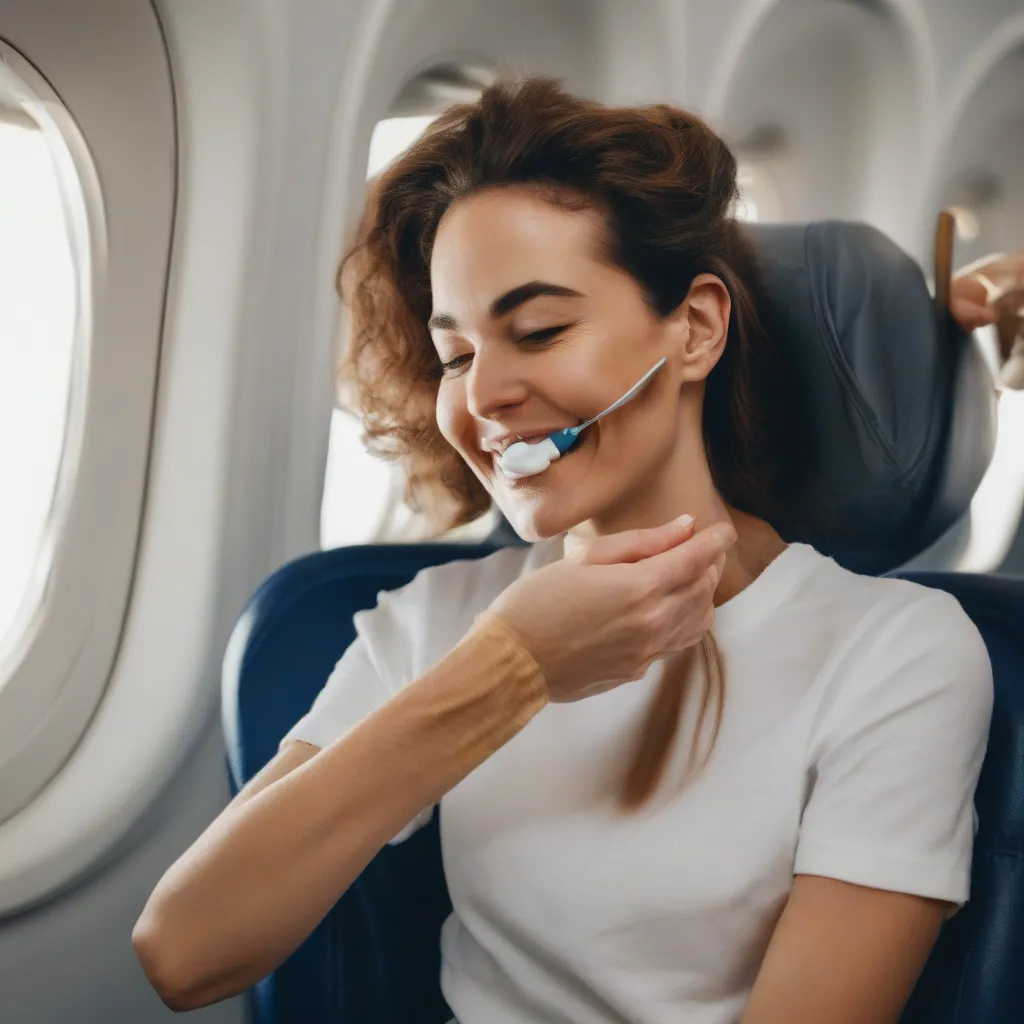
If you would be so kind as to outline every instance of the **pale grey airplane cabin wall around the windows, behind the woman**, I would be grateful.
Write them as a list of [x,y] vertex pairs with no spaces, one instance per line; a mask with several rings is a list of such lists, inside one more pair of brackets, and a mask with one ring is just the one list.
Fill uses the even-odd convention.
[[[0,0],[0,39],[5,11],[32,2]],[[63,16],[98,17],[112,2],[63,0]],[[935,210],[964,187],[961,163],[1021,166],[1024,153],[1002,145],[1008,119],[1024,117],[1020,0],[820,0],[818,20],[814,6],[154,0],[174,79],[178,198],[132,604],[83,739],[34,804],[0,822],[5,1024],[171,1016],[130,929],[228,798],[218,673],[230,627],[275,566],[318,547],[332,268],[373,127],[402,82],[438,60],[483,59],[609,101],[678,102],[728,131],[752,174],[778,176],[766,209],[869,214],[927,259]],[[782,148],[761,131],[778,111],[792,115]],[[1024,195],[998,203],[998,223],[1016,225],[1000,244],[1024,245]],[[1024,569],[1020,538],[1009,550]],[[50,847],[30,857],[30,839],[46,835]],[[236,1024],[242,1001],[195,1016]]]

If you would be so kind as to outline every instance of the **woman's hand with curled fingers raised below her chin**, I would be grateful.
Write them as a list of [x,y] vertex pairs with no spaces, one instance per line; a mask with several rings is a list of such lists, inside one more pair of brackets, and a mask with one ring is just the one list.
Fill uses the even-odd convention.
[[532,654],[553,702],[640,679],[695,644],[735,543],[729,523],[692,520],[598,538],[508,587],[490,605]]

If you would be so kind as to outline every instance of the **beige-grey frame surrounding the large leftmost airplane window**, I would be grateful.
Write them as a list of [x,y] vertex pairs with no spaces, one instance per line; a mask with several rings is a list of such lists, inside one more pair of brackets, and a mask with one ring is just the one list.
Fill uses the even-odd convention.
[[68,52],[70,37],[55,43],[50,4],[33,6],[42,8],[36,16],[0,35],[0,59],[60,132],[78,178],[87,259],[77,267],[78,336],[50,519],[0,649],[0,822],[67,762],[117,657],[142,519],[176,198],[167,65],[111,60],[110,80],[89,82],[90,55]]

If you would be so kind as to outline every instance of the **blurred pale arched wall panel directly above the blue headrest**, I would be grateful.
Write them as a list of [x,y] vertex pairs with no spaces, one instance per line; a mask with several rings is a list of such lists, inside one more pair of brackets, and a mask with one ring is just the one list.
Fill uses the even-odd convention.
[[712,120],[773,180],[779,218],[861,218],[905,238],[931,106],[916,23],[846,0],[752,10],[713,71]]

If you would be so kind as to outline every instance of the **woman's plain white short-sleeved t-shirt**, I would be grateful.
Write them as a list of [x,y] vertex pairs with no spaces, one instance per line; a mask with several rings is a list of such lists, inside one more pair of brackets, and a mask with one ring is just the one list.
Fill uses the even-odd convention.
[[[561,552],[506,549],[381,594],[289,736],[331,743]],[[650,804],[617,809],[655,668],[546,707],[442,799],[441,987],[461,1024],[734,1022],[796,873],[968,898],[992,682],[958,603],[796,544],[715,635],[724,718],[685,787],[684,728]]]

